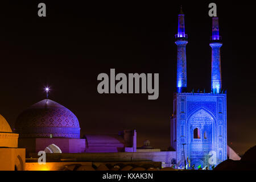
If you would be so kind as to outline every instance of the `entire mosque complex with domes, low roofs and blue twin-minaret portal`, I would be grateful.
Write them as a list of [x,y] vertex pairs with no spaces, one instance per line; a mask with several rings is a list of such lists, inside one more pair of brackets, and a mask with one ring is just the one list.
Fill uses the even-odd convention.
[[[163,165],[185,167],[217,165],[227,158],[240,157],[227,145],[226,93],[221,85],[221,36],[218,17],[212,18],[212,80],[210,93],[187,92],[186,45],[184,13],[178,15],[177,90],[171,117],[171,147],[160,151],[149,141],[137,147],[135,130],[116,135],[84,135],[80,137],[79,119],[69,109],[48,98],[31,105],[16,119],[15,133],[0,115],[0,170],[24,170],[26,162],[39,151],[48,153],[47,160],[65,159],[96,162],[161,162]],[[57,156],[57,160],[56,160]]]

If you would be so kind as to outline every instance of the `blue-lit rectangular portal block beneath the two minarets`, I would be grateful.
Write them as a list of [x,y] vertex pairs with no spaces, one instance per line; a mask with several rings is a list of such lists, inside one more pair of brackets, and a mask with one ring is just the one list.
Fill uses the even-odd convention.
[[[174,98],[171,146],[177,151],[177,164],[184,166],[184,156],[191,166],[201,168],[226,160],[226,94],[176,93]],[[209,160],[213,155],[215,160]]]

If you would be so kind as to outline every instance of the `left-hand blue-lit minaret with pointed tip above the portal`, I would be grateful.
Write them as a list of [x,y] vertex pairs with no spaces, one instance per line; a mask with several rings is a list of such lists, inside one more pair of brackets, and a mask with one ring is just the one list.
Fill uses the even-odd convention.
[[187,92],[187,59],[186,44],[188,36],[185,34],[185,19],[182,8],[178,15],[178,31],[175,35],[175,44],[177,45],[177,90],[176,92]]

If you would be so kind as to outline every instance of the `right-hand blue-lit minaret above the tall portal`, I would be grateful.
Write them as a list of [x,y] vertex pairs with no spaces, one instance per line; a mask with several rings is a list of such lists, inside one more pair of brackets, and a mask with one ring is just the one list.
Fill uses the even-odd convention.
[[218,29],[218,17],[212,18],[212,36],[210,37],[212,47],[212,93],[221,92],[221,36]]

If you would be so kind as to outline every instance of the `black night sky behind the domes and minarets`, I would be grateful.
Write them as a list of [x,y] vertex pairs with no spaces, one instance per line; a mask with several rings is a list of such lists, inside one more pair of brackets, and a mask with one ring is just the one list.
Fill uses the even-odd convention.
[[[170,146],[176,77],[177,14],[185,13],[188,90],[210,91],[211,18],[216,1],[1,3],[0,114],[14,128],[28,106],[49,98],[70,109],[83,134],[137,130],[137,146]],[[222,88],[228,90],[228,144],[243,154],[256,144],[255,1],[216,2],[223,46]],[[159,73],[159,98],[98,94],[97,76]],[[232,144],[231,144],[232,142]]]

